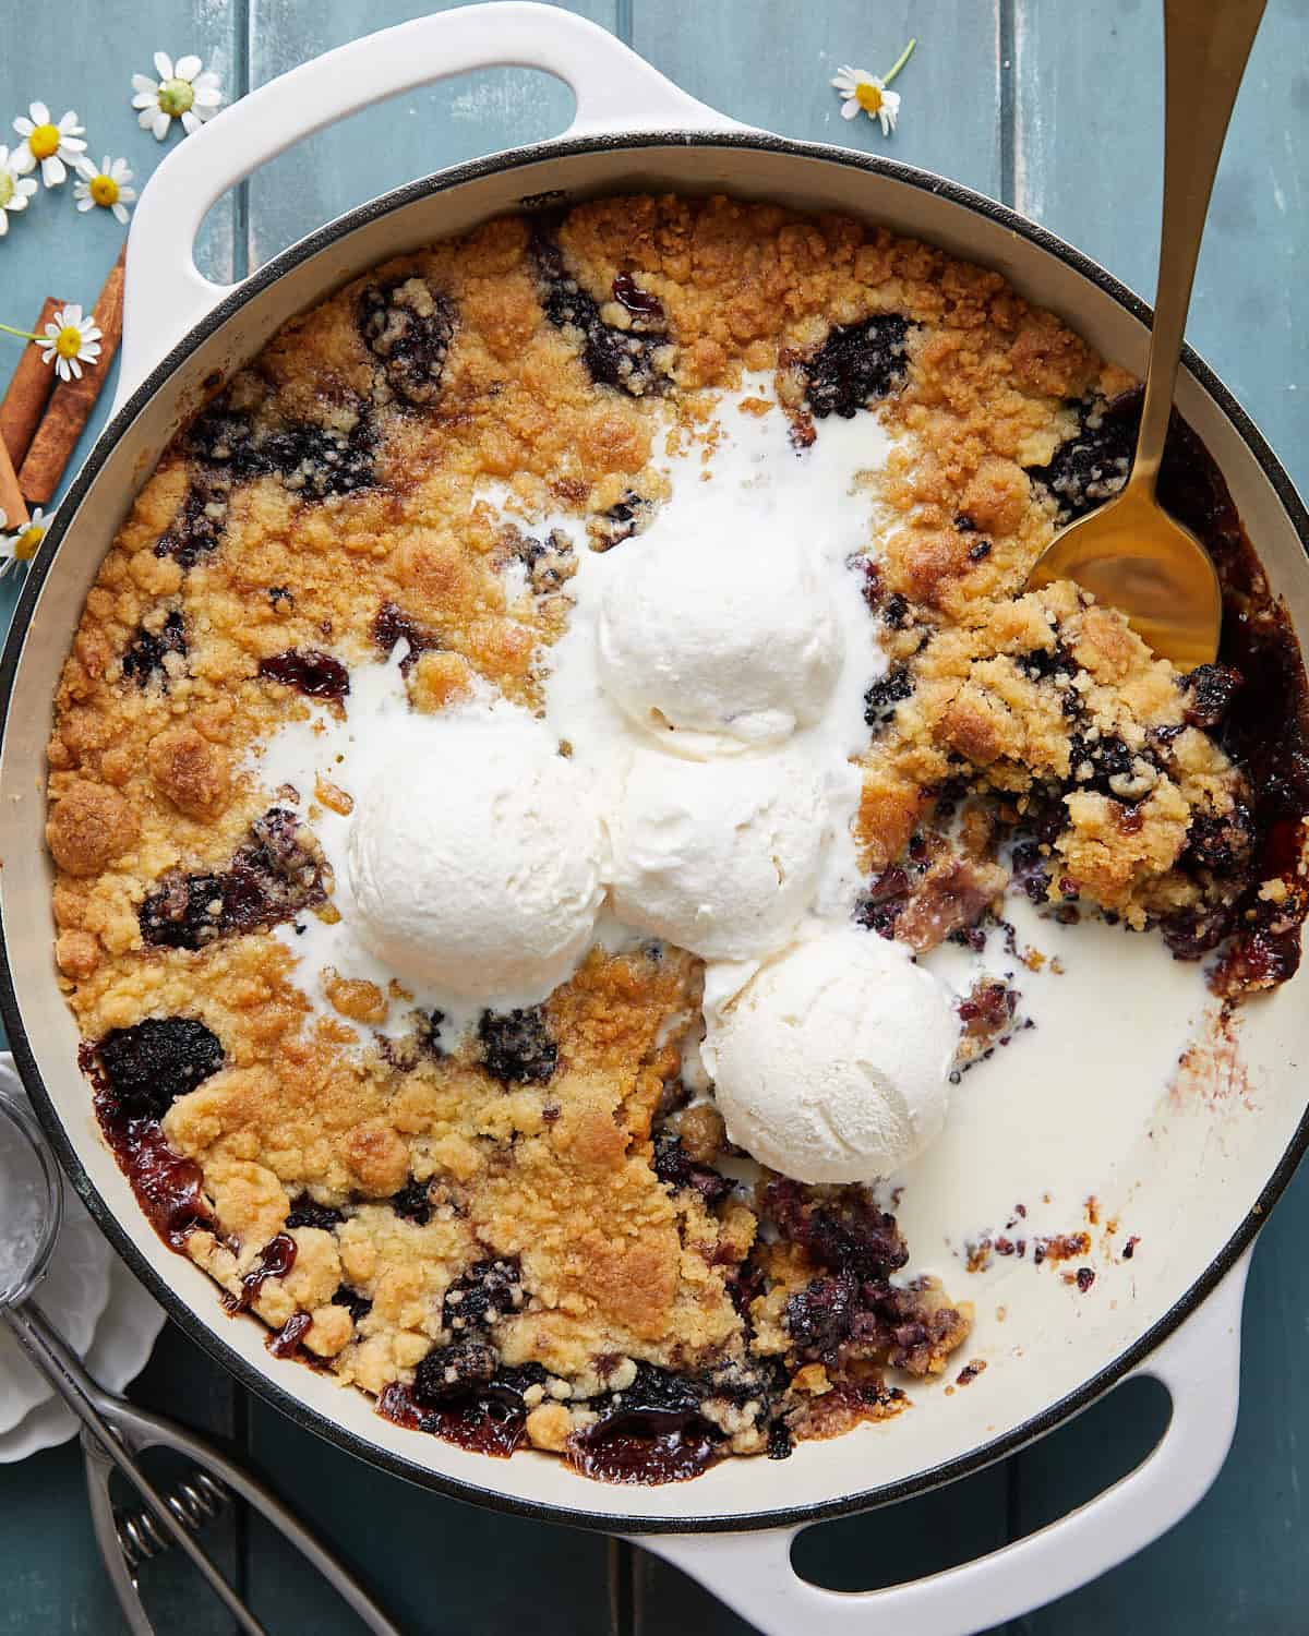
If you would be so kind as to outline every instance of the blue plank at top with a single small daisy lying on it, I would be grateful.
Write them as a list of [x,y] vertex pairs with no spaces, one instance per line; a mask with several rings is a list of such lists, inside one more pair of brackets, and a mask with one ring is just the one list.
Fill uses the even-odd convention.
[[[846,62],[885,74],[911,34],[918,51],[895,83],[900,126],[884,137],[846,123],[828,85]],[[792,0],[712,5],[637,0],[632,44],[684,90],[746,124],[839,142],[923,165],[998,196],[1001,185],[998,0]]]

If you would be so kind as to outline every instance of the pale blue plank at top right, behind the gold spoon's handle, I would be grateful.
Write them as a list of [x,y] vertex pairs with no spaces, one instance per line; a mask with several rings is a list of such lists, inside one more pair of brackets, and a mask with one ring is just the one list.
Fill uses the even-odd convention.
[[[1014,0],[1014,203],[1154,296],[1163,155],[1157,5]],[[1271,0],[1214,188],[1188,337],[1309,483],[1309,16]]]

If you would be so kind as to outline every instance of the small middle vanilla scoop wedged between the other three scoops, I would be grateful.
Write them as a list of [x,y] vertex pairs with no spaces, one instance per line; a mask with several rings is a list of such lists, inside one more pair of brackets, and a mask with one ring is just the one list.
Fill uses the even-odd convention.
[[708,960],[785,942],[826,841],[818,779],[795,753],[682,761],[640,751],[610,815],[619,919]]

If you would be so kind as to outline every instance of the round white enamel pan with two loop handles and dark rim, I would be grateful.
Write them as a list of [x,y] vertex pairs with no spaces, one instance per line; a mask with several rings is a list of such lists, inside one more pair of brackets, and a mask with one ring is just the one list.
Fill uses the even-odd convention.
[[[573,87],[578,118],[565,137],[391,193],[313,234],[231,291],[196,273],[190,245],[205,211],[280,149],[365,103],[501,64],[547,69]],[[1104,1299],[1072,1306],[1057,1278],[1028,1278],[1021,1288],[1014,1281],[1006,1296],[1003,1368],[990,1368],[967,1392],[933,1397],[926,1389],[916,1394],[923,1402],[898,1420],[803,1445],[785,1464],[728,1461],[692,1484],[630,1489],[586,1482],[538,1454],[491,1461],[404,1432],[375,1415],[362,1394],[272,1358],[254,1320],[226,1317],[208,1278],[154,1235],[98,1137],[77,1068],[77,1031],[49,954],[43,820],[51,699],[100,560],[178,424],[286,319],[386,257],[540,195],[574,200],[651,188],[722,190],[885,222],[998,268],[1106,357],[1137,371],[1144,366],[1140,303],[1032,224],[923,172],[733,126],[568,13],[527,3],[445,11],[360,39],[265,85],[177,147],[141,200],[129,242],[118,411],[61,507],[18,607],[3,661],[7,970],[0,1000],[46,1129],[119,1253],[191,1337],[293,1418],[429,1487],[640,1535],[766,1631],[808,1623],[866,1631],[885,1620],[885,1628],[951,1636],[1001,1623],[1139,1549],[1181,1517],[1217,1472],[1235,1420],[1244,1252],[1306,1140],[1296,1072],[1309,1049],[1302,982],[1247,1011],[1247,1098],[1194,1098],[1175,1109],[1167,1144],[1142,1142],[1139,1152],[1121,1155],[1122,1173],[1134,1171],[1142,1183],[1132,1230],[1149,1237],[1152,1253],[1106,1288]],[[1221,465],[1296,627],[1309,631],[1309,527],[1284,473],[1194,357],[1178,383],[1178,401]],[[1124,1072],[1131,1072],[1132,1050],[1134,1040],[1124,1039]],[[1093,1119],[1095,1085],[1078,1086],[1075,1057],[1073,1049],[1065,1090]],[[1162,1090],[1154,1086],[1150,1094]],[[1075,1129],[1068,1139],[1077,1140]],[[983,1330],[978,1325],[977,1346],[985,1356],[998,1342]],[[846,1597],[794,1575],[789,1544],[802,1523],[975,1469],[1134,1371],[1168,1386],[1172,1425],[1145,1464],[1090,1507],[992,1557],[915,1585]]]

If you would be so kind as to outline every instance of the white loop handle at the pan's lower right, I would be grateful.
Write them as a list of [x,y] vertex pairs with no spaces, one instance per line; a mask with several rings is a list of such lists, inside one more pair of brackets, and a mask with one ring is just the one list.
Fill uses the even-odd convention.
[[1250,1252],[1134,1374],[1168,1387],[1173,1414],[1147,1458],[1047,1528],[960,1567],[885,1590],[823,1590],[797,1575],[798,1528],[633,1535],[699,1579],[764,1636],[969,1636],[1077,1590],[1172,1528],[1199,1502],[1232,1443],[1240,1396],[1240,1306]]

